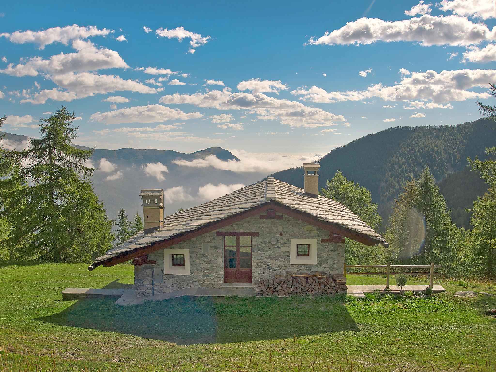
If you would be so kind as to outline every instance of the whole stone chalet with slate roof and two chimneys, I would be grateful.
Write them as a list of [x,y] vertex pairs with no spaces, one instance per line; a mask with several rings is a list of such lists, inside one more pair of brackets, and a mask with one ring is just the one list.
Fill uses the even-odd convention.
[[252,295],[256,283],[286,271],[342,274],[345,238],[387,243],[343,204],[318,195],[318,168],[304,164],[305,189],[269,177],[166,217],[163,190],[142,190],[144,231],[88,269],[132,259],[141,299],[237,288]]

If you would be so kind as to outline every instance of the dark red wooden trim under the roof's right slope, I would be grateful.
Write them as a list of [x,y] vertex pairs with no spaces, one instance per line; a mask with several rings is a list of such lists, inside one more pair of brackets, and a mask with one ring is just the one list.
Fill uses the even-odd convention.
[[313,217],[310,213],[297,211],[295,209],[287,207],[286,205],[282,205],[282,204],[280,204],[274,200],[271,200],[271,203],[273,203],[272,209],[278,211],[279,213],[283,213],[286,216],[296,218],[296,219],[301,220],[303,222],[307,222],[310,225],[317,226],[317,227],[324,229],[324,230],[327,230],[331,233],[342,235],[346,238],[352,239],[356,242],[365,244],[367,246],[374,246],[374,245],[380,243],[379,241],[373,240],[372,238],[368,237],[365,234],[352,232],[352,231],[344,229],[341,226],[337,226],[336,224],[333,224],[331,222],[325,222],[322,220],[318,220],[316,217]]

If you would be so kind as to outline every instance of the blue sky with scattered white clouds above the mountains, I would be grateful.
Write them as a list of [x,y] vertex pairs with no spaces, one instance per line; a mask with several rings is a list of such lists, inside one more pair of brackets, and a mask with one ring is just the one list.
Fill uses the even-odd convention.
[[48,4],[0,7],[7,132],[35,136],[66,105],[92,147],[310,159],[390,126],[475,120],[496,81],[488,0]]

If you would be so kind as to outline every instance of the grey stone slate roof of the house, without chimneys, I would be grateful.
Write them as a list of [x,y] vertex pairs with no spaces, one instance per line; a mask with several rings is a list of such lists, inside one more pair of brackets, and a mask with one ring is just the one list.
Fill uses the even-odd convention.
[[166,216],[164,228],[146,235],[140,231],[98,257],[94,263],[196,230],[209,222],[220,221],[270,200],[275,200],[300,212],[310,213],[324,222],[331,222],[352,232],[367,235],[377,243],[387,246],[386,241],[379,234],[343,204],[320,195],[316,198],[308,196],[302,188],[269,177],[265,181],[245,186],[212,201]]

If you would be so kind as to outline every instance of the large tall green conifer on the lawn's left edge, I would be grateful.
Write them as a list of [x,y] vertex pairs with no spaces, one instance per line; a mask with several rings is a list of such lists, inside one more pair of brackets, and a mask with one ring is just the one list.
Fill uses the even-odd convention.
[[0,180],[9,196],[0,215],[12,227],[6,243],[20,258],[89,261],[112,240],[111,221],[86,179],[94,171],[85,165],[93,151],[72,145],[78,130],[73,120],[62,106],[41,120],[39,139],[7,156],[17,172]]

